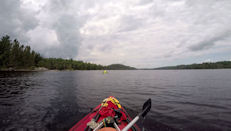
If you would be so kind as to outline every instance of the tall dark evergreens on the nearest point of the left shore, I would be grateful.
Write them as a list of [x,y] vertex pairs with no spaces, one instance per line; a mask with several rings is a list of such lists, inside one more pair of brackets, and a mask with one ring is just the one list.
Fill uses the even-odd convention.
[[0,40],[0,67],[1,68],[30,68],[38,66],[42,59],[39,53],[24,46],[16,39],[11,41],[9,36]]

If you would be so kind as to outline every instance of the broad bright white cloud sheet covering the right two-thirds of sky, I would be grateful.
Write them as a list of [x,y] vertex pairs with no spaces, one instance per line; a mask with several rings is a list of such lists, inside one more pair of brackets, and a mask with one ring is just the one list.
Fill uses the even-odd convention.
[[[80,58],[97,58],[95,62],[105,64],[122,62],[137,67],[161,66],[177,59],[217,53],[216,50],[222,52],[230,45],[230,42],[222,47],[217,45],[230,36],[231,17],[226,15],[231,11],[229,1],[154,1],[122,7],[126,11],[120,11],[121,7],[111,8],[109,14],[114,10],[118,13],[88,21],[97,23],[112,16],[120,18],[101,22],[95,29],[85,26],[89,35],[85,34]],[[98,15],[100,13],[93,17]],[[99,33],[107,26],[115,28],[111,32]],[[99,34],[102,35],[96,37]]]

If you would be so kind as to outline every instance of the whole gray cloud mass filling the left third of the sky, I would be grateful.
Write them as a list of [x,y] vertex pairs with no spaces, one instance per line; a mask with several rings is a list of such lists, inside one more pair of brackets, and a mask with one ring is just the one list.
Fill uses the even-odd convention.
[[[81,44],[79,29],[84,17],[79,17],[78,9],[71,11],[72,5],[71,0],[50,0],[35,11],[23,7],[22,1],[3,0],[0,4],[0,36],[7,34],[17,38],[46,57],[74,58]],[[45,19],[40,19],[40,15]],[[48,31],[54,34],[50,36]],[[54,35],[56,38],[49,38]]]

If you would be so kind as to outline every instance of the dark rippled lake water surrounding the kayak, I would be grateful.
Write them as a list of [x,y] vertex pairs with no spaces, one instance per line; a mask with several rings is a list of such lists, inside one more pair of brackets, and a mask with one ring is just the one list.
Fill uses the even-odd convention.
[[0,130],[68,130],[104,98],[147,130],[231,130],[231,70],[0,72]]

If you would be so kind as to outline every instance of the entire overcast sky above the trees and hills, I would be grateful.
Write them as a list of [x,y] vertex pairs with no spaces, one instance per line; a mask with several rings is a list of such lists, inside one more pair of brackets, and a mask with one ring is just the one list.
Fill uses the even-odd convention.
[[231,0],[1,0],[0,36],[138,68],[231,60]]

